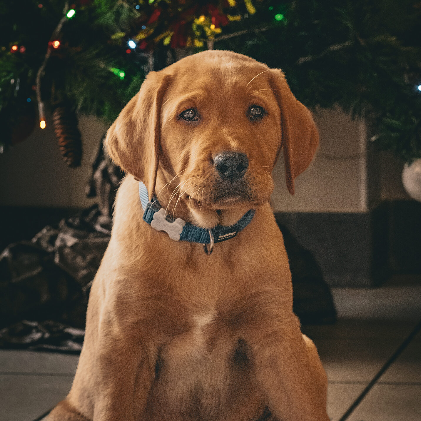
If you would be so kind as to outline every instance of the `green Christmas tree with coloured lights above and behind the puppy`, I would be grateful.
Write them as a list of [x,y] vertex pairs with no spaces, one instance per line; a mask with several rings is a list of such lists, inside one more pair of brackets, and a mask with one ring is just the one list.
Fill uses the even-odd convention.
[[[373,144],[421,157],[421,3],[59,0],[0,3],[0,150],[54,124],[80,162],[76,113],[111,122],[177,52],[229,49],[280,67],[308,107],[339,105]],[[53,113],[45,122],[45,111]],[[41,128],[39,130],[41,130]]]

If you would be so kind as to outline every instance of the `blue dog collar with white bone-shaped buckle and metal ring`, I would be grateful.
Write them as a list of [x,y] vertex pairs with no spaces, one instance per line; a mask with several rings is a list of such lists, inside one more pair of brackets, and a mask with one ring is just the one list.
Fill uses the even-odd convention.
[[[244,229],[253,219],[255,212],[254,209],[250,209],[231,226],[217,225],[215,228],[205,229],[185,222],[181,218],[173,220],[169,215],[165,215],[165,209],[161,207],[156,197],[149,201],[148,190],[141,181],[139,181],[139,196],[144,210],[143,220],[152,228],[167,232],[169,237],[175,241],[201,243],[208,254],[212,253],[214,243],[229,240]],[[206,244],[210,244],[209,250]]]

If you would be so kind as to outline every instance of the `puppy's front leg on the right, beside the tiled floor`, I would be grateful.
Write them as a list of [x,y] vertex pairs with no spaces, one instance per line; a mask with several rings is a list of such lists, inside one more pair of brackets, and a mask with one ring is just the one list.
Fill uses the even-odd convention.
[[327,377],[297,317],[253,330],[246,339],[266,405],[279,421],[328,421]]

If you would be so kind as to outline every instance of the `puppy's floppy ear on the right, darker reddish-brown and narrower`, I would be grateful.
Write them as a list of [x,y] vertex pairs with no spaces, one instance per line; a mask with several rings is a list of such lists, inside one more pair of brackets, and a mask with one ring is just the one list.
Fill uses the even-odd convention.
[[294,179],[312,162],[319,144],[319,133],[311,113],[293,95],[281,70],[270,70],[269,83],[281,111],[282,139],[277,157],[283,148],[287,187],[293,195]]

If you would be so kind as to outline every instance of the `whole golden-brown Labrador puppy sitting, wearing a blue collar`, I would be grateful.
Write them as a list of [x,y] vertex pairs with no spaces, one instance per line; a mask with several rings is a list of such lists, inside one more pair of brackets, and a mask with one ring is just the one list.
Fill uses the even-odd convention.
[[48,420],[328,421],[269,205],[281,149],[293,193],[318,145],[283,73],[186,57],[149,73],[106,145],[127,176],[72,390]]

